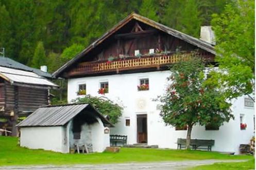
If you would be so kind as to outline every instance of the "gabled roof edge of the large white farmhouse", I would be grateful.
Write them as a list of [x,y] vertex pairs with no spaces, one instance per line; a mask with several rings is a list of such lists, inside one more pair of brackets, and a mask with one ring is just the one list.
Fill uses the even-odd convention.
[[76,61],[78,61],[84,54],[87,54],[90,50],[92,50],[93,48],[95,48],[97,45],[99,45],[100,43],[102,43],[104,40],[106,40],[110,35],[112,35],[113,33],[115,33],[118,29],[122,28],[124,25],[126,25],[128,22],[130,22],[131,20],[136,20],[139,22],[142,22],[144,24],[147,24],[153,28],[156,28],[158,30],[161,30],[163,32],[166,32],[170,35],[173,35],[175,37],[177,37],[180,40],[183,40],[187,43],[190,43],[194,46],[197,46],[198,48],[201,48],[203,50],[206,50],[212,54],[216,54],[215,50],[214,50],[214,46],[211,45],[210,43],[207,43],[205,41],[196,39],[193,36],[187,35],[185,33],[182,33],[180,31],[177,31],[175,29],[169,28],[165,25],[162,25],[160,23],[157,23],[153,20],[150,20],[149,18],[146,18],[144,16],[141,16],[139,14],[136,13],[131,13],[130,15],[128,15],[124,20],[122,20],[121,22],[119,22],[117,25],[115,25],[112,29],[110,29],[108,32],[106,32],[103,36],[101,36],[99,39],[97,39],[95,42],[93,42],[91,45],[89,45],[86,49],[84,49],[83,51],[81,51],[79,54],[77,54],[73,59],[71,59],[69,62],[65,63],[62,67],[60,67],[58,70],[56,70],[53,73],[53,77],[57,78],[59,77],[59,75],[67,68],[69,68],[70,66],[72,66]]

